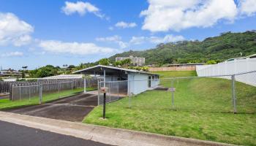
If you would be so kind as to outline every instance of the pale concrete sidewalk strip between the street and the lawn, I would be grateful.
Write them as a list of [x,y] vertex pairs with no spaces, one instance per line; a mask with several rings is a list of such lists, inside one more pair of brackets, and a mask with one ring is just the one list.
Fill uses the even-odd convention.
[[227,145],[219,142],[208,142],[197,139],[170,137],[160,134],[129,131],[119,128],[93,126],[84,123],[74,123],[64,120],[39,118],[29,115],[19,115],[10,112],[0,112],[0,120],[15,123],[31,128],[39,128],[57,134],[65,134],[72,137],[89,139],[109,145]]

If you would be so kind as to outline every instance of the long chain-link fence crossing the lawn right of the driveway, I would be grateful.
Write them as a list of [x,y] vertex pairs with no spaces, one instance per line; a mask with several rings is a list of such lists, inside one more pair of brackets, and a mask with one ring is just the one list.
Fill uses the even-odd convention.
[[[236,80],[244,75],[256,79],[254,71],[209,77],[99,82],[98,104],[104,103],[101,89],[105,87],[105,102],[113,109],[256,113],[256,87]],[[138,84],[146,85],[147,89],[138,92],[134,86]]]

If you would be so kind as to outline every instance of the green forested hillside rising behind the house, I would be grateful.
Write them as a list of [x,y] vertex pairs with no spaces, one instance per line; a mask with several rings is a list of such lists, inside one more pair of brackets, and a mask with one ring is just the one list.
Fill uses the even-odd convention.
[[159,44],[156,48],[143,51],[128,51],[110,57],[115,61],[118,56],[145,57],[146,64],[197,63],[209,60],[225,61],[256,53],[256,31],[244,33],[222,33],[218,37],[208,37],[203,41],[182,41]]

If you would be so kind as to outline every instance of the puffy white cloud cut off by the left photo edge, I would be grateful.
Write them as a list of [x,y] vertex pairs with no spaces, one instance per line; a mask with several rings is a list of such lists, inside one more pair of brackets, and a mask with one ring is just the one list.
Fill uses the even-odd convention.
[[0,45],[27,45],[34,28],[12,13],[0,12]]

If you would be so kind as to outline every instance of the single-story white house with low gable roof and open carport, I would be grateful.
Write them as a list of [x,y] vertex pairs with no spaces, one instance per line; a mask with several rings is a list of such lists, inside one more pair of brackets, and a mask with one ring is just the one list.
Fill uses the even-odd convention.
[[127,82],[127,85],[123,85],[122,88],[127,88],[127,93],[133,94],[141,93],[159,85],[159,74],[142,72],[135,69],[123,69],[114,66],[97,65],[73,73],[94,74],[95,77],[102,77],[104,85],[105,83],[110,84],[111,82],[115,84],[115,81]]

